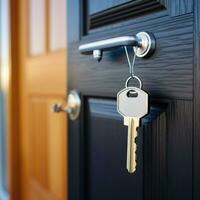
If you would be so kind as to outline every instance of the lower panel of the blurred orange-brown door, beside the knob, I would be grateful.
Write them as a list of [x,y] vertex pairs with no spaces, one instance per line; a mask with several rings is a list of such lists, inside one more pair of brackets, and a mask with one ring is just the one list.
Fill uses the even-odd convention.
[[29,190],[34,192],[29,198],[32,199],[37,199],[40,193],[44,193],[44,196],[39,199],[46,199],[45,196],[51,196],[47,199],[64,199],[66,164],[63,158],[66,156],[66,141],[63,140],[63,130],[66,116],[64,113],[53,114],[49,109],[58,101],[58,98],[45,96],[30,99]]

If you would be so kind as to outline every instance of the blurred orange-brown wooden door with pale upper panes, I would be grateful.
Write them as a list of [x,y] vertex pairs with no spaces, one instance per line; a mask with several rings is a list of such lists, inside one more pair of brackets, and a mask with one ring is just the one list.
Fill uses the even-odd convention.
[[21,169],[16,199],[65,200],[66,115],[51,106],[66,95],[66,1],[19,0],[16,9]]

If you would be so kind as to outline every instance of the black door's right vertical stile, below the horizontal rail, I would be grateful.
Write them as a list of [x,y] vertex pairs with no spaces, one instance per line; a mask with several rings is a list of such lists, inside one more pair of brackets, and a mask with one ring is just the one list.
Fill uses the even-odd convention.
[[192,199],[192,101],[174,101],[167,113],[168,199]]

